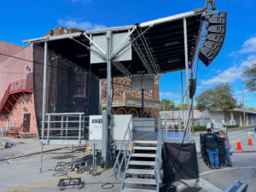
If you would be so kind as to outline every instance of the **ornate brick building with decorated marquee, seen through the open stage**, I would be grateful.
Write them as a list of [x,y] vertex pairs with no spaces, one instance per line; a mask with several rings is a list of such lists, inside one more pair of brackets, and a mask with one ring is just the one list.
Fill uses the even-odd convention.
[[[154,90],[144,90],[144,117],[159,116],[160,91],[159,78],[154,77]],[[102,108],[106,108],[107,79],[102,80]],[[113,79],[113,114],[132,114],[134,117],[142,117],[142,90],[131,90],[130,78]]]

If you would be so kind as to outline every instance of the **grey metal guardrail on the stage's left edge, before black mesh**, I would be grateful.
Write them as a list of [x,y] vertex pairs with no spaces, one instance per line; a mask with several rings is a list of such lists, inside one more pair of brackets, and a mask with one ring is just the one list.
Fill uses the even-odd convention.
[[84,113],[45,113],[45,128],[41,139],[81,140],[85,128],[89,126],[89,116]]

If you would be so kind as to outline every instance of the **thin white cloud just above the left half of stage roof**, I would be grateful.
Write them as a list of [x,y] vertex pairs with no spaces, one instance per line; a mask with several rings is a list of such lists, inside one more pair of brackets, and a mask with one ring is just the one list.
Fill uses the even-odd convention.
[[79,20],[73,20],[73,19],[58,20],[58,23],[62,26],[76,27],[84,30],[97,30],[97,29],[107,28],[107,26],[104,26],[102,24],[96,24],[96,23],[91,23],[89,21],[79,21]]

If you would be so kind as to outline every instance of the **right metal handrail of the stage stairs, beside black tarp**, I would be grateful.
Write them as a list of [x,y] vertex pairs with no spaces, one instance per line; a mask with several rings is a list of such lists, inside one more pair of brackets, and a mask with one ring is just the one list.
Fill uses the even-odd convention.
[[161,155],[162,155],[162,144],[163,141],[163,131],[161,128],[160,123],[160,116],[158,117],[158,133],[157,133],[157,147],[156,147],[156,154],[155,154],[155,160],[154,160],[154,178],[155,182],[157,183],[157,192],[160,190],[160,183],[161,177],[160,177],[160,170],[161,170]]

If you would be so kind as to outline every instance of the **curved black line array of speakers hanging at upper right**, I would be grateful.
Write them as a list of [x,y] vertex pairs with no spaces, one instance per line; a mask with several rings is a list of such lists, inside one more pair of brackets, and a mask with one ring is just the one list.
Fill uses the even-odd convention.
[[224,44],[227,12],[212,13],[207,15],[205,19],[208,22],[206,26],[207,35],[203,46],[199,49],[198,56],[206,66],[209,66]]

